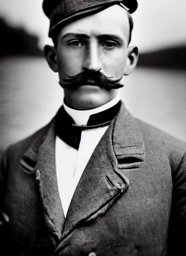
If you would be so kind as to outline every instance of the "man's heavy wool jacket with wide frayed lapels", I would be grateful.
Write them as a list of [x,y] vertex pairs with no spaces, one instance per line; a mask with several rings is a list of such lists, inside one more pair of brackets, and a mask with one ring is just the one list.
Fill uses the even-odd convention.
[[54,117],[3,157],[1,217],[9,220],[0,225],[1,255],[186,255],[185,143],[134,119],[122,105],[65,219],[55,131]]

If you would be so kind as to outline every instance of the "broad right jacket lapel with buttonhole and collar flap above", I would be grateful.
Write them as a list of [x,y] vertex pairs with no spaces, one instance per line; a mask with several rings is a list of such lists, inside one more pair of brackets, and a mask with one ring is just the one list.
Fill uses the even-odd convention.
[[144,161],[144,144],[134,118],[121,106],[94,150],[70,203],[62,240],[81,221],[104,214],[129,186],[122,169]]

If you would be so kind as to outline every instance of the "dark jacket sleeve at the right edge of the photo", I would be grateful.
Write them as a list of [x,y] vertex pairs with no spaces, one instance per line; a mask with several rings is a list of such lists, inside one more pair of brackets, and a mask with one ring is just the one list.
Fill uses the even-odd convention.
[[173,174],[169,255],[186,255],[186,153]]

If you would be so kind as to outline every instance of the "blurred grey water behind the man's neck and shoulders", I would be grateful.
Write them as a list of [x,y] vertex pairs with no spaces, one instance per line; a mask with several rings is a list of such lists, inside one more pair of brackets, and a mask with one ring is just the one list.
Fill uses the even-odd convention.
[[[0,149],[36,131],[55,115],[63,91],[43,58],[0,61]],[[186,71],[137,68],[121,97],[136,117],[186,141]]]

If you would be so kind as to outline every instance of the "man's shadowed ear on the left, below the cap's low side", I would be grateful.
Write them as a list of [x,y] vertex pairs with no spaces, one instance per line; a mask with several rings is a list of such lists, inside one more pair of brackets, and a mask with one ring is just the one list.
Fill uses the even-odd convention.
[[51,46],[51,45],[45,45],[44,54],[45,54],[45,58],[48,62],[49,67],[54,72],[58,72],[56,48],[54,46]]

